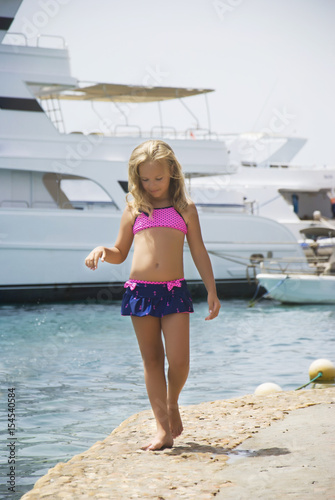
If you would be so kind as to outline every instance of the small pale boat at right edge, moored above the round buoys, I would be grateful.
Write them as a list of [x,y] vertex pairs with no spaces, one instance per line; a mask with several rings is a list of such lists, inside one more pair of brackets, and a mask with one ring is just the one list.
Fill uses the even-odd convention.
[[328,262],[314,261],[306,271],[257,274],[266,296],[285,304],[335,304],[335,252]]

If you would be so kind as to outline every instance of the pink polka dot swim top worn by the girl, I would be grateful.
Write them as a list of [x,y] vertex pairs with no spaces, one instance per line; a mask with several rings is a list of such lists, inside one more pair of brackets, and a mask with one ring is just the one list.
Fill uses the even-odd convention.
[[186,222],[174,207],[154,208],[151,218],[141,212],[135,219],[133,233],[150,227],[172,227],[187,234]]

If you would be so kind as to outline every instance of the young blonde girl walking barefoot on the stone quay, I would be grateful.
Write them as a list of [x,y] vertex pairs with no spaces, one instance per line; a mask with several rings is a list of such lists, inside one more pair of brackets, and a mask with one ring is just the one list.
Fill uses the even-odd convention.
[[128,178],[132,200],[127,200],[115,245],[95,248],[85,264],[92,270],[99,259],[120,264],[134,240],[121,314],[132,319],[157,424],[156,435],[143,449],[159,450],[172,447],[183,430],[178,398],[189,371],[189,313],[193,312],[183,271],[185,236],[207,289],[206,320],[219,314],[220,302],[198,213],[187,198],[182,169],[170,146],[158,140],[140,144],[131,154]]

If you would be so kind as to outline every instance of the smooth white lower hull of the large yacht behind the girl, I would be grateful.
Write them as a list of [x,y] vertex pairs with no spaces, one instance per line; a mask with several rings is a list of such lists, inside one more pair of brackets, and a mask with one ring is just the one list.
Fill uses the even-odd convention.
[[[132,249],[121,265],[84,260],[97,245],[112,246],[120,212],[7,209],[0,213],[3,263],[0,302],[116,300],[129,278]],[[256,289],[260,260],[302,258],[291,233],[270,219],[241,214],[201,214],[203,239],[221,297],[247,297]],[[187,243],[185,278],[194,296],[205,293]]]

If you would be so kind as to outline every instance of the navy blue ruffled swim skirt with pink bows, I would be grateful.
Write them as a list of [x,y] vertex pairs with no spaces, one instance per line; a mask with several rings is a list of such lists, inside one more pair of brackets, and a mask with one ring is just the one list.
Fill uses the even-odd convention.
[[184,279],[161,283],[129,280],[121,305],[122,316],[155,316],[192,313],[193,305]]

